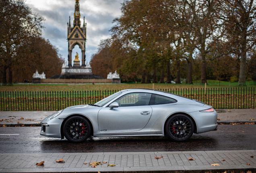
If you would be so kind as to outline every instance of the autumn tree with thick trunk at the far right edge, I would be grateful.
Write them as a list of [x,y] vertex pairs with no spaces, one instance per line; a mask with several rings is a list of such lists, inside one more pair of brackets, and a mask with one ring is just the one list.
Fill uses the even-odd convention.
[[225,0],[221,6],[231,53],[239,56],[239,85],[246,82],[246,62],[256,44],[256,2],[254,0]]

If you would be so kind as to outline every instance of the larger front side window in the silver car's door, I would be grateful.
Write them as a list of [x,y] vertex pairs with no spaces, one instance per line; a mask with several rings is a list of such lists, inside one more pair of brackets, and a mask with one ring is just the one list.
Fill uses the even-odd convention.
[[131,93],[124,95],[115,102],[118,103],[120,107],[145,106],[149,105],[151,95],[152,94],[149,93]]

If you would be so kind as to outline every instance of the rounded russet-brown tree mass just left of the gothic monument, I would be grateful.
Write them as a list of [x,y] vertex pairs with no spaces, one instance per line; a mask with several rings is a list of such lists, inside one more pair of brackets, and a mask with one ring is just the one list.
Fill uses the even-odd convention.
[[22,82],[32,79],[36,70],[45,73],[46,78],[61,73],[64,60],[60,58],[58,49],[49,40],[41,37],[29,37],[16,49],[15,64],[12,64],[13,81]]

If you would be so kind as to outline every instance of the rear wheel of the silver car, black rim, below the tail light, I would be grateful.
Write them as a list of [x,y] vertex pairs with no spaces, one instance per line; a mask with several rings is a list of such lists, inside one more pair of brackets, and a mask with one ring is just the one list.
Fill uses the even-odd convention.
[[165,130],[171,140],[184,142],[193,135],[194,124],[187,115],[177,114],[167,121]]

